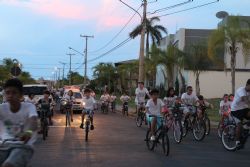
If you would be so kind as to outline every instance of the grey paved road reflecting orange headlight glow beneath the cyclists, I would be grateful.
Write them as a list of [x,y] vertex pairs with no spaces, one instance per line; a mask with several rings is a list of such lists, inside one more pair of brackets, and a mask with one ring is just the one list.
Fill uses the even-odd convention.
[[34,167],[249,167],[250,144],[245,150],[227,152],[215,132],[203,142],[189,134],[181,144],[171,141],[169,157],[161,150],[148,151],[144,142],[146,128],[137,128],[132,118],[118,113],[95,115],[95,130],[84,141],[80,115],[71,128],[65,128],[64,116],[54,117],[48,140],[38,139],[32,159]]

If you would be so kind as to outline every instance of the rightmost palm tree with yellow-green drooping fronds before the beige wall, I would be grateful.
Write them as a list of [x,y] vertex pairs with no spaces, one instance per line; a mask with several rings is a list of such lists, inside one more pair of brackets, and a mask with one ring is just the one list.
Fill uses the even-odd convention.
[[212,33],[209,39],[208,54],[210,57],[216,58],[218,57],[216,51],[225,48],[231,55],[232,93],[235,92],[236,56],[241,47],[246,62],[250,51],[250,23],[240,19],[239,16],[228,16],[226,24],[218,27]]

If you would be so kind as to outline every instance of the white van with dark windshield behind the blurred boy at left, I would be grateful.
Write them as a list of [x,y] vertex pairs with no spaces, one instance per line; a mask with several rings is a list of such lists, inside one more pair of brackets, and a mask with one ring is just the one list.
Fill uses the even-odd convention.
[[23,85],[24,98],[28,97],[30,93],[35,95],[35,101],[43,97],[43,91],[48,90],[47,85],[32,84],[32,85]]

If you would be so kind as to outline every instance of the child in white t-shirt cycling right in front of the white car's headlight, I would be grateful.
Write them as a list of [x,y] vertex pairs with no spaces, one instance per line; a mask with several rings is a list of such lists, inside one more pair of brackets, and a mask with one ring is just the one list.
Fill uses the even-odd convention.
[[85,115],[86,114],[90,114],[91,115],[91,119],[90,119],[90,129],[94,130],[94,124],[93,124],[93,115],[94,115],[94,106],[95,106],[95,99],[91,96],[91,90],[86,88],[84,90],[84,97],[83,97],[83,103],[84,103],[84,109],[82,110],[82,123],[80,125],[80,128],[84,129],[84,119],[85,119]]

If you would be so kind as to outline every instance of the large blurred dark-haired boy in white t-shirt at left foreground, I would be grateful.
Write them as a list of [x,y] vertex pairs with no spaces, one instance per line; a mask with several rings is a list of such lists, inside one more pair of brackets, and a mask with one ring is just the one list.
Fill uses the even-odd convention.
[[[36,141],[37,112],[35,105],[20,102],[23,84],[18,79],[9,79],[4,84],[6,103],[0,104],[0,139],[14,140],[2,144],[0,148],[0,166],[26,166],[33,155],[33,143]],[[6,150],[4,150],[6,148]]]

